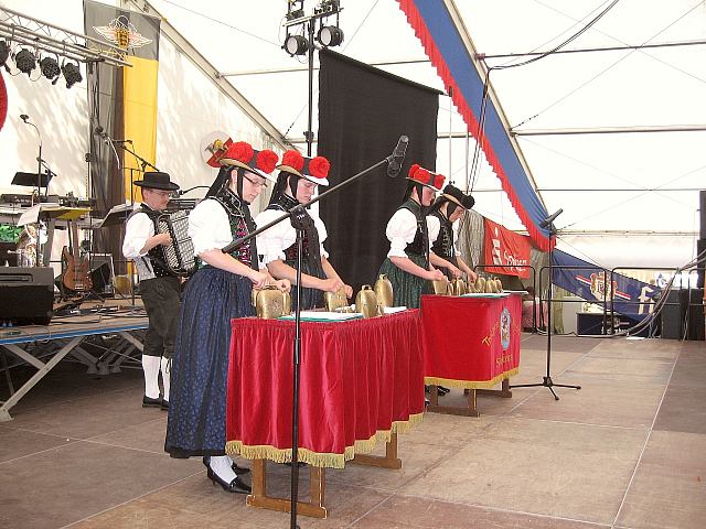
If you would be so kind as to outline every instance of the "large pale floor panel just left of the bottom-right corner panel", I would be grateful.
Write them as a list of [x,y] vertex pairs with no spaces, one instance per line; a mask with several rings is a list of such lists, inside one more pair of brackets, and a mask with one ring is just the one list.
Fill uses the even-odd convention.
[[612,522],[646,432],[507,419],[400,494]]

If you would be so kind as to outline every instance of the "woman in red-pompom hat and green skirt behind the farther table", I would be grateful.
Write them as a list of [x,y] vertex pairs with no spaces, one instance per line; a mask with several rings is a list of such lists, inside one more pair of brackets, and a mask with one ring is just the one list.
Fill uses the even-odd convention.
[[385,235],[389,251],[378,273],[393,284],[397,306],[419,307],[422,293],[431,293],[429,281],[443,279],[443,273],[429,262],[429,233],[426,208],[443,186],[445,177],[417,164],[409,169],[409,183],[402,206],[387,223]]

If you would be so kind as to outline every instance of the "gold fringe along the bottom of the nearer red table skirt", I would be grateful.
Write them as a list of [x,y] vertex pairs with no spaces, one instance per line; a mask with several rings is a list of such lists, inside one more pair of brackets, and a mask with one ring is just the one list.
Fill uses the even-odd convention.
[[[388,442],[393,433],[406,433],[415,424],[421,423],[424,413],[409,415],[406,421],[395,421],[391,430],[378,430],[370,439],[356,440],[353,446],[346,446],[343,454],[313,452],[309,449],[299,449],[297,457],[302,463],[311,466],[327,468],[344,468],[345,462],[355,457],[355,454],[364,454],[375,450],[378,442]],[[228,455],[240,455],[246,460],[269,460],[275,463],[290,463],[291,449],[277,449],[267,444],[245,445],[242,441],[228,441],[225,446]]]

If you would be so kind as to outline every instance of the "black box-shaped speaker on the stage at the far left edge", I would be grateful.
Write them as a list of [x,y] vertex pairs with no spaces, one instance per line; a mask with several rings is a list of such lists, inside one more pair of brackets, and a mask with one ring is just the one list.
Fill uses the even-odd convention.
[[13,325],[49,325],[54,304],[51,267],[0,267],[0,321]]

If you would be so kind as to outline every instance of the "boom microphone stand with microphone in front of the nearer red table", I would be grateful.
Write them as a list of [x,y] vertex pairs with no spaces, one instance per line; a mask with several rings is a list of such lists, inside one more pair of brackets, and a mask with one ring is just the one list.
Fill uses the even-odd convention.
[[[404,156],[404,153],[403,153]],[[289,212],[286,212],[280,217],[276,218],[271,223],[266,224],[265,226],[257,228],[252,234],[246,235],[245,237],[240,237],[239,239],[234,240],[228,246],[223,248],[224,253],[229,253],[235,248],[242,246],[244,242],[250,240],[253,237],[258,236],[263,231],[271,228],[272,226],[286,220],[287,218],[291,218],[292,227],[297,230],[297,306],[295,309],[295,347],[293,347],[293,374],[292,374],[292,431],[291,431],[291,498],[290,498],[290,508],[291,508],[291,528],[297,527],[297,504],[299,499],[299,365],[301,359],[301,259],[302,259],[302,241],[303,241],[303,224],[301,224],[301,218],[306,218],[308,215],[306,214],[306,208],[310,205],[321,201],[323,197],[329,196],[332,193],[335,193],[343,188],[344,186],[352,184],[356,180],[365,176],[366,174],[375,171],[377,168],[381,168],[385,164],[389,164],[395,159],[395,152],[393,152],[389,156],[381,160],[379,162],[371,165],[370,168],[361,171],[357,174],[354,174],[350,179],[344,182],[341,182],[338,185],[334,185],[330,190],[324,193],[321,193],[317,197],[307,202],[306,204],[298,204],[292,207]],[[402,162],[397,159],[399,164]]]

